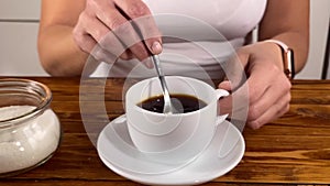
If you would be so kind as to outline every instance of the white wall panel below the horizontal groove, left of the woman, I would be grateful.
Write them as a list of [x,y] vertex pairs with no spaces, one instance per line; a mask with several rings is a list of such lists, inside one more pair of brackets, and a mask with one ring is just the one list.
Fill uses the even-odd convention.
[[0,75],[46,75],[37,57],[37,23],[0,22]]

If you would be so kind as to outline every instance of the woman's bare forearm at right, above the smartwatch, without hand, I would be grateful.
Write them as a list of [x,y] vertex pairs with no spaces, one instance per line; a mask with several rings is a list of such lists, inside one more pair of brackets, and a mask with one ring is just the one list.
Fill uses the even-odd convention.
[[258,39],[286,43],[295,52],[296,73],[300,72],[309,50],[309,0],[268,0]]

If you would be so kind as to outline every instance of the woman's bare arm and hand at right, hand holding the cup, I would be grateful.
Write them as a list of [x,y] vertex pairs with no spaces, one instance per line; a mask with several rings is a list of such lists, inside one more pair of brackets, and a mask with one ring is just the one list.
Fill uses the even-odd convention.
[[[219,85],[229,90],[238,88],[233,95],[248,97],[246,123],[253,129],[283,116],[290,102],[292,84],[284,74],[280,48],[277,44],[262,41],[273,39],[286,43],[294,50],[296,73],[301,70],[309,47],[309,1],[268,0],[258,39],[260,42],[239,48],[234,62],[229,63],[243,66],[246,74],[244,85],[240,85],[241,77]],[[233,66],[229,72],[235,72],[234,65],[229,66]],[[246,88],[249,95],[245,94]],[[220,102],[220,106],[228,106],[222,109],[224,113],[231,110],[231,97]]]

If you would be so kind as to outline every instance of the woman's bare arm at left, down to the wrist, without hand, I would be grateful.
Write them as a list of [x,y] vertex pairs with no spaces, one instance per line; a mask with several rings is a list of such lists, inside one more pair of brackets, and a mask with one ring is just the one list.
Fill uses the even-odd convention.
[[51,75],[80,75],[88,54],[75,43],[73,29],[84,9],[85,0],[42,1],[37,46],[40,61]]

